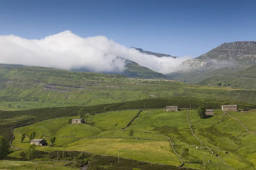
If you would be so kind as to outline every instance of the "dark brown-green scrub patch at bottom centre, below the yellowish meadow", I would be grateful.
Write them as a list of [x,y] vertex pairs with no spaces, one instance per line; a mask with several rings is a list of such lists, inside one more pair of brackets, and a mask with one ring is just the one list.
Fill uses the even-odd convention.
[[151,164],[143,161],[118,158],[113,156],[93,156],[88,164],[89,170],[192,170],[190,168],[175,167],[173,165]]

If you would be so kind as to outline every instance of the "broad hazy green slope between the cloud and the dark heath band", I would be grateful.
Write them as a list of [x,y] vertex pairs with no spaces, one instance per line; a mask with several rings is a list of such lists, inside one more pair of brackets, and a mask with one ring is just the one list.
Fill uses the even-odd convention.
[[[0,66],[0,108],[12,110],[98,105],[151,98],[186,97],[256,102],[256,91],[128,79],[41,67]],[[18,108],[20,105],[20,108]],[[25,106],[25,108],[23,108]]]

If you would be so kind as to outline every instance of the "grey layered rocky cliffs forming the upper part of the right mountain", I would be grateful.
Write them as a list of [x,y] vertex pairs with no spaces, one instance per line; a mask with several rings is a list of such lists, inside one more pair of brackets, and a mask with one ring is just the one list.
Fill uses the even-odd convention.
[[225,42],[211,51],[181,63],[185,68],[204,68],[211,65],[255,65],[256,41]]

